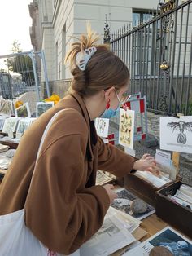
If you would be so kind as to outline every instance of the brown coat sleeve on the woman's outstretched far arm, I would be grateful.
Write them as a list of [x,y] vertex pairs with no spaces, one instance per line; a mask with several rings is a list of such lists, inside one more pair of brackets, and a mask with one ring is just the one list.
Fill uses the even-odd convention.
[[110,143],[103,143],[98,137],[98,169],[105,170],[117,177],[129,174],[133,169],[134,157],[121,151]]

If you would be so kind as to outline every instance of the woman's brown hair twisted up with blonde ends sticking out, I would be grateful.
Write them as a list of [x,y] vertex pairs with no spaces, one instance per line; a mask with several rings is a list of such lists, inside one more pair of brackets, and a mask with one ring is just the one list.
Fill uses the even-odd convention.
[[[79,42],[72,43],[72,49],[68,52],[65,61],[70,60],[72,73],[72,90],[80,95],[94,95],[98,90],[107,90],[111,86],[116,89],[125,86],[129,81],[129,70],[122,60],[109,50],[106,44],[97,45],[99,37],[87,29],[87,35],[77,38]],[[85,71],[76,66],[76,54],[91,46],[97,51],[88,61]]]

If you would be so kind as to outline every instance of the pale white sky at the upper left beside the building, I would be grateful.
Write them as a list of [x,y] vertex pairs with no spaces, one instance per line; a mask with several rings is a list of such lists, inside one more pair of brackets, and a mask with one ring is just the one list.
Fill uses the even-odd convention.
[[0,7],[0,55],[11,54],[12,43],[20,42],[22,51],[33,49],[29,27],[32,19],[28,4],[33,0],[6,0]]

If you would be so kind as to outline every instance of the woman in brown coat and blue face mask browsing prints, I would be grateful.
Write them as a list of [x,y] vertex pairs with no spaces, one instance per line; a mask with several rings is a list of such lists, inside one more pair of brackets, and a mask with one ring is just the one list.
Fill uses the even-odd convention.
[[[0,186],[0,214],[24,208],[33,235],[60,254],[72,254],[93,236],[116,198],[112,185],[95,186],[98,169],[122,177],[154,166],[153,157],[134,161],[95,132],[94,118],[118,108],[129,86],[128,68],[97,40],[89,29],[73,43],[71,92],[26,131]],[[66,110],[50,127],[34,168],[41,135],[60,109]]]

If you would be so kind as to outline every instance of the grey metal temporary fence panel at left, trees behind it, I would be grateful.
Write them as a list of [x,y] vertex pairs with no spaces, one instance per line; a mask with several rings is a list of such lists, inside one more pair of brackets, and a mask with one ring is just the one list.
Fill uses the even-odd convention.
[[[4,99],[28,101],[33,111],[36,102],[43,99],[41,91],[41,72],[43,69],[46,95],[50,96],[46,74],[44,52],[18,52],[0,55],[3,68],[0,69],[0,95]],[[42,68],[41,68],[42,67]]]

